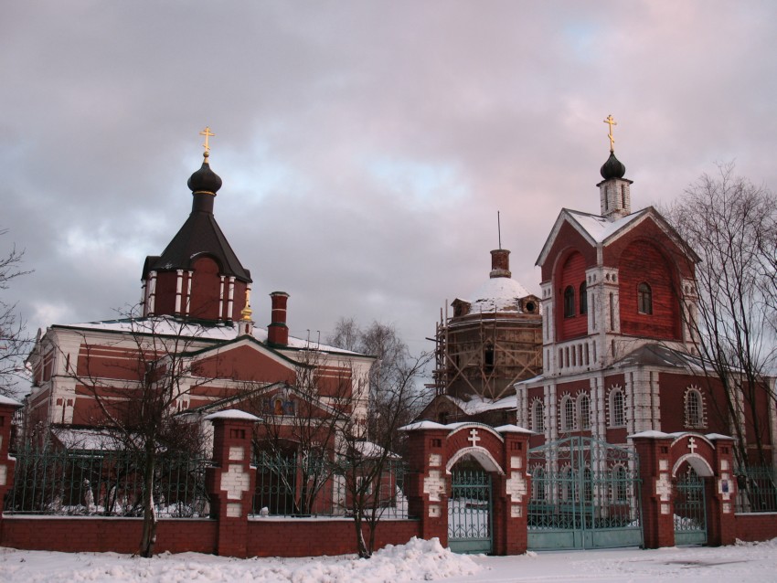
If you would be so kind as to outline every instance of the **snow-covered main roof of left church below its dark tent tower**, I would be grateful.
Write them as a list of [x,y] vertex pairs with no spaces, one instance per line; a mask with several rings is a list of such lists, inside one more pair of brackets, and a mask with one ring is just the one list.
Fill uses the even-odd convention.
[[[98,322],[56,324],[61,328],[79,328],[83,330],[97,330],[105,332],[122,332],[126,334],[159,334],[168,336],[183,336],[186,338],[215,340],[229,342],[238,337],[239,328],[236,325],[201,323],[186,323],[176,318],[155,316],[151,318],[122,318],[120,320],[102,320]],[[261,343],[267,342],[267,329],[254,327],[253,337]],[[363,356],[360,353],[337,348],[336,346],[310,343],[301,338],[289,336],[290,348],[314,349],[324,352],[339,353],[344,355]]]

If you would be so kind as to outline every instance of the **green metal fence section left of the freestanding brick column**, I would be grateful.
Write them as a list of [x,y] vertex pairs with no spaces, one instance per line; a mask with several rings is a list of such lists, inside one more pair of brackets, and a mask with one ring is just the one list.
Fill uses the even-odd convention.
[[[7,514],[141,516],[144,457],[128,451],[68,451],[50,447],[15,452]],[[208,516],[205,470],[210,461],[162,453],[154,469],[154,505],[160,517]]]

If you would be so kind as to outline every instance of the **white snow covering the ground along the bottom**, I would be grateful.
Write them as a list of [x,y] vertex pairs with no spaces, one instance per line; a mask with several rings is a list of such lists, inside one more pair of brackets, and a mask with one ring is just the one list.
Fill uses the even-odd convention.
[[0,548],[0,581],[119,581],[197,583],[262,581],[347,583],[444,580],[489,581],[681,581],[685,583],[777,582],[777,539],[738,546],[635,548],[529,553],[520,557],[453,555],[437,540],[413,539],[369,560],[356,557],[251,558],[197,553],[153,559],[114,553],[52,553]]

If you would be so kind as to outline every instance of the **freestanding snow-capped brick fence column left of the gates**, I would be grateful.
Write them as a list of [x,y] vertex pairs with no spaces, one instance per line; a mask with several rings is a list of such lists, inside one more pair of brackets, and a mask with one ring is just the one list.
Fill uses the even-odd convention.
[[260,419],[242,411],[221,411],[205,419],[213,422],[213,461],[206,472],[210,515],[218,520],[216,552],[246,557],[248,514],[256,482],[251,467],[251,434]]

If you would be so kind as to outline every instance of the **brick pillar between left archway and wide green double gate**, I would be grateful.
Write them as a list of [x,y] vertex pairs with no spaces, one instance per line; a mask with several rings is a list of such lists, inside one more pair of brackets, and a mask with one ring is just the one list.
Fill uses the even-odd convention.
[[527,475],[529,431],[506,425],[496,428],[505,438],[502,459],[504,476],[494,482],[494,554],[527,552],[527,511],[530,477]]

